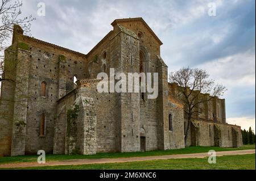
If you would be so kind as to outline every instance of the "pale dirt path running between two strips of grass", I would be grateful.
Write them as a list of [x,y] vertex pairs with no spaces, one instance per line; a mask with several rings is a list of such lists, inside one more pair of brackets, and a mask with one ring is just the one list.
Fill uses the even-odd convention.
[[[217,151],[216,154],[217,156],[255,154],[255,149],[236,150],[236,151]],[[64,161],[48,161],[48,162],[46,161],[45,164],[39,164],[35,162],[6,163],[3,165],[0,165],[0,168],[57,166],[57,165],[87,165],[87,164],[94,164],[94,163],[122,163],[122,162],[150,161],[155,159],[204,158],[208,156],[209,156],[208,153],[193,153],[193,154],[174,154],[174,155],[130,157],[130,158],[69,159]]]

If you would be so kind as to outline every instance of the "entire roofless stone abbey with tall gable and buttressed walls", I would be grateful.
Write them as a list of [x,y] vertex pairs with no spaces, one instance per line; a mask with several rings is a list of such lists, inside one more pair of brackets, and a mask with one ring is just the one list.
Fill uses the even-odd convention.
[[[175,99],[177,85],[168,83],[162,41],[142,18],[116,19],[112,26],[87,54],[25,36],[14,26],[5,50],[4,76],[14,81],[2,81],[0,155],[242,146],[241,128],[226,123],[225,100],[218,98],[203,105],[185,143],[183,104]],[[158,73],[158,97],[98,92],[97,74],[110,68]]]

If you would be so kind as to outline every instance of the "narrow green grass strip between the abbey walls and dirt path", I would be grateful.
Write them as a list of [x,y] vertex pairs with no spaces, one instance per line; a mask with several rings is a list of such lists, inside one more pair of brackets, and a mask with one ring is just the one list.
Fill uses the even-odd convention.
[[[215,151],[230,151],[230,150],[245,150],[255,149],[255,146],[245,146],[241,148],[219,148],[207,146],[191,146],[179,150],[155,150],[146,152],[132,153],[97,153],[95,155],[54,155],[46,154],[46,161],[56,161],[65,159],[90,159],[90,158],[119,158],[119,157],[146,157],[155,155],[171,155],[171,154],[189,154],[189,153],[204,153],[209,150]],[[16,157],[0,157],[0,164],[15,163],[15,162],[36,162],[38,155],[22,155]]]

